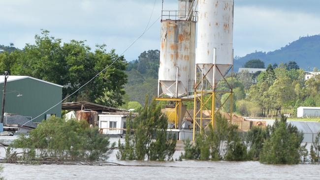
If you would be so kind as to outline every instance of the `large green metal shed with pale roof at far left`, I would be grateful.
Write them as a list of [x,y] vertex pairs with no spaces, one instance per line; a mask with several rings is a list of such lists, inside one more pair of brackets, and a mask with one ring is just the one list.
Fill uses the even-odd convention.
[[[0,76],[3,90],[4,76]],[[7,79],[4,112],[33,119],[62,100],[63,86],[32,78],[30,76],[9,76]],[[2,100],[0,92],[0,102]],[[0,109],[2,104],[0,103]],[[41,122],[47,116],[61,117],[61,103],[32,122]]]

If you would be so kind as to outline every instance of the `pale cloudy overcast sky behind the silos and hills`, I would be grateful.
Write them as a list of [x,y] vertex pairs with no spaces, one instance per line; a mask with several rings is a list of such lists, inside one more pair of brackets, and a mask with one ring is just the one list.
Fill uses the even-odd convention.
[[[234,0],[235,56],[274,51],[299,36],[320,34],[320,0]],[[62,38],[106,44],[122,53],[146,28],[155,0],[0,0],[0,44],[23,48],[46,29]],[[177,0],[164,0],[177,9]],[[156,0],[150,25],[161,13]],[[126,53],[135,60],[160,48],[160,20]]]

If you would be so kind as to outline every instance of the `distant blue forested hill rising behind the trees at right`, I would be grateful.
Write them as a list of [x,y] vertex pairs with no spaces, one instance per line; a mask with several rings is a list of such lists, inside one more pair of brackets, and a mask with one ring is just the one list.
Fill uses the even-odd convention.
[[238,71],[239,67],[252,59],[264,61],[265,65],[269,63],[279,64],[280,62],[288,62],[293,60],[297,62],[300,68],[312,70],[314,67],[320,67],[320,35],[301,37],[296,41],[289,43],[272,52],[255,52],[245,57],[234,60],[234,71]]

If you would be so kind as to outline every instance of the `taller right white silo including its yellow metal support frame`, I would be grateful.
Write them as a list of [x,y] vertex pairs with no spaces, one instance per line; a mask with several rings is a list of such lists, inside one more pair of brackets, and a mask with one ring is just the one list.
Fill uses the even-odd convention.
[[[215,125],[216,113],[232,121],[233,0],[198,0],[193,140],[196,131]],[[231,75],[232,79],[232,75]],[[226,99],[222,99],[228,94]]]

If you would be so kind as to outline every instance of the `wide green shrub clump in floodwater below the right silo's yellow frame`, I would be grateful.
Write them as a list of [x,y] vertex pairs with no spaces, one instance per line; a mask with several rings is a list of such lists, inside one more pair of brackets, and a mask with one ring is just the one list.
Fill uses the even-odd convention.
[[214,127],[209,124],[208,130],[202,130],[195,136],[193,145],[189,140],[185,141],[185,153],[181,157],[199,160],[246,160],[247,147],[237,132],[237,126],[229,124],[221,114],[217,114],[215,122]]

